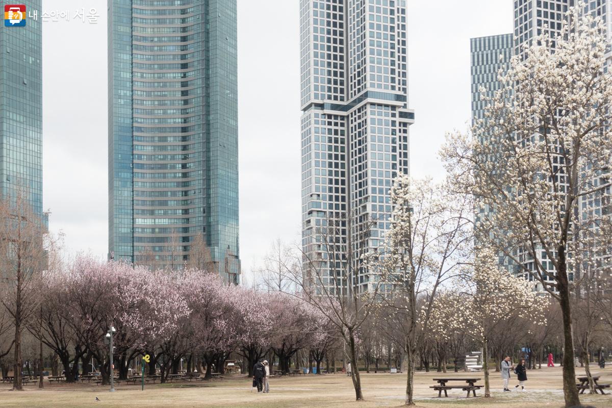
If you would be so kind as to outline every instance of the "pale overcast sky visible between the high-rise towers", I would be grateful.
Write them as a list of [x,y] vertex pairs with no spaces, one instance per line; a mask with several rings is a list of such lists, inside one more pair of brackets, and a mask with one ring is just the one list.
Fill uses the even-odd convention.
[[[300,237],[299,0],[237,0],[240,254]],[[95,9],[97,23],[73,20]],[[45,0],[43,207],[70,253],[108,251],[106,0]],[[40,16],[39,16],[40,18]],[[469,39],[512,32],[512,0],[408,0],[411,175],[441,177],[444,133],[470,117]]]

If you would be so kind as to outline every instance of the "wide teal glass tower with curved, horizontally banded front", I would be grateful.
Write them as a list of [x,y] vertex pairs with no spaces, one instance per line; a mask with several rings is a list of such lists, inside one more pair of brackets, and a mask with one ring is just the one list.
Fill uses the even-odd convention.
[[109,256],[239,280],[236,0],[108,7]]

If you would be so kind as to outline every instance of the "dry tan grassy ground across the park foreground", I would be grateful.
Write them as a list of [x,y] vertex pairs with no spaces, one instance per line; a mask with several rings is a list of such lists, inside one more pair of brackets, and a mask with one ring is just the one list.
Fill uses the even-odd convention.
[[[474,374],[474,373],[472,373]],[[482,373],[475,373],[482,378]],[[584,374],[577,369],[577,374]],[[596,369],[600,383],[612,383],[612,368]],[[464,391],[453,390],[449,398],[437,398],[437,391],[431,390],[433,378],[439,376],[465,376],[465,373],[417,373],[417,405],[426,408],[474,407],[474,408],[539,408],[561,407],[561,369],[542,368],[529,371],[526,392],[504,393],[498,373],[491,373],[492,398],[465,398]],[[516,383],[516,377],[511,384]],[[0,388],[0,407],[28,408],[72,408],[72,407],[248,407],[248,408],[289,408],[289,407],[332,407],[370,408],[399,407],[403,404],[406,387],[404,374],[362,374],[366,401],[355,402],[353,385],[349,377],[341,374],[323,376],[282,377],[270,380],[269,394],[251,392],[251,380],[245,377],[226,377],[211,382],[146,385],[144,392],[140,385],[119,385],[115,393],[107,387],[88,384],[48,384],[39,390],[37,385],[26,385],[25,391],[10,391],[9,386]],[[480,381],[482,383],[482,381]],[[99,402],[95,398],[100,399]],[[612,408],[612,395],[584,395],[584,404],[596,408]]]

